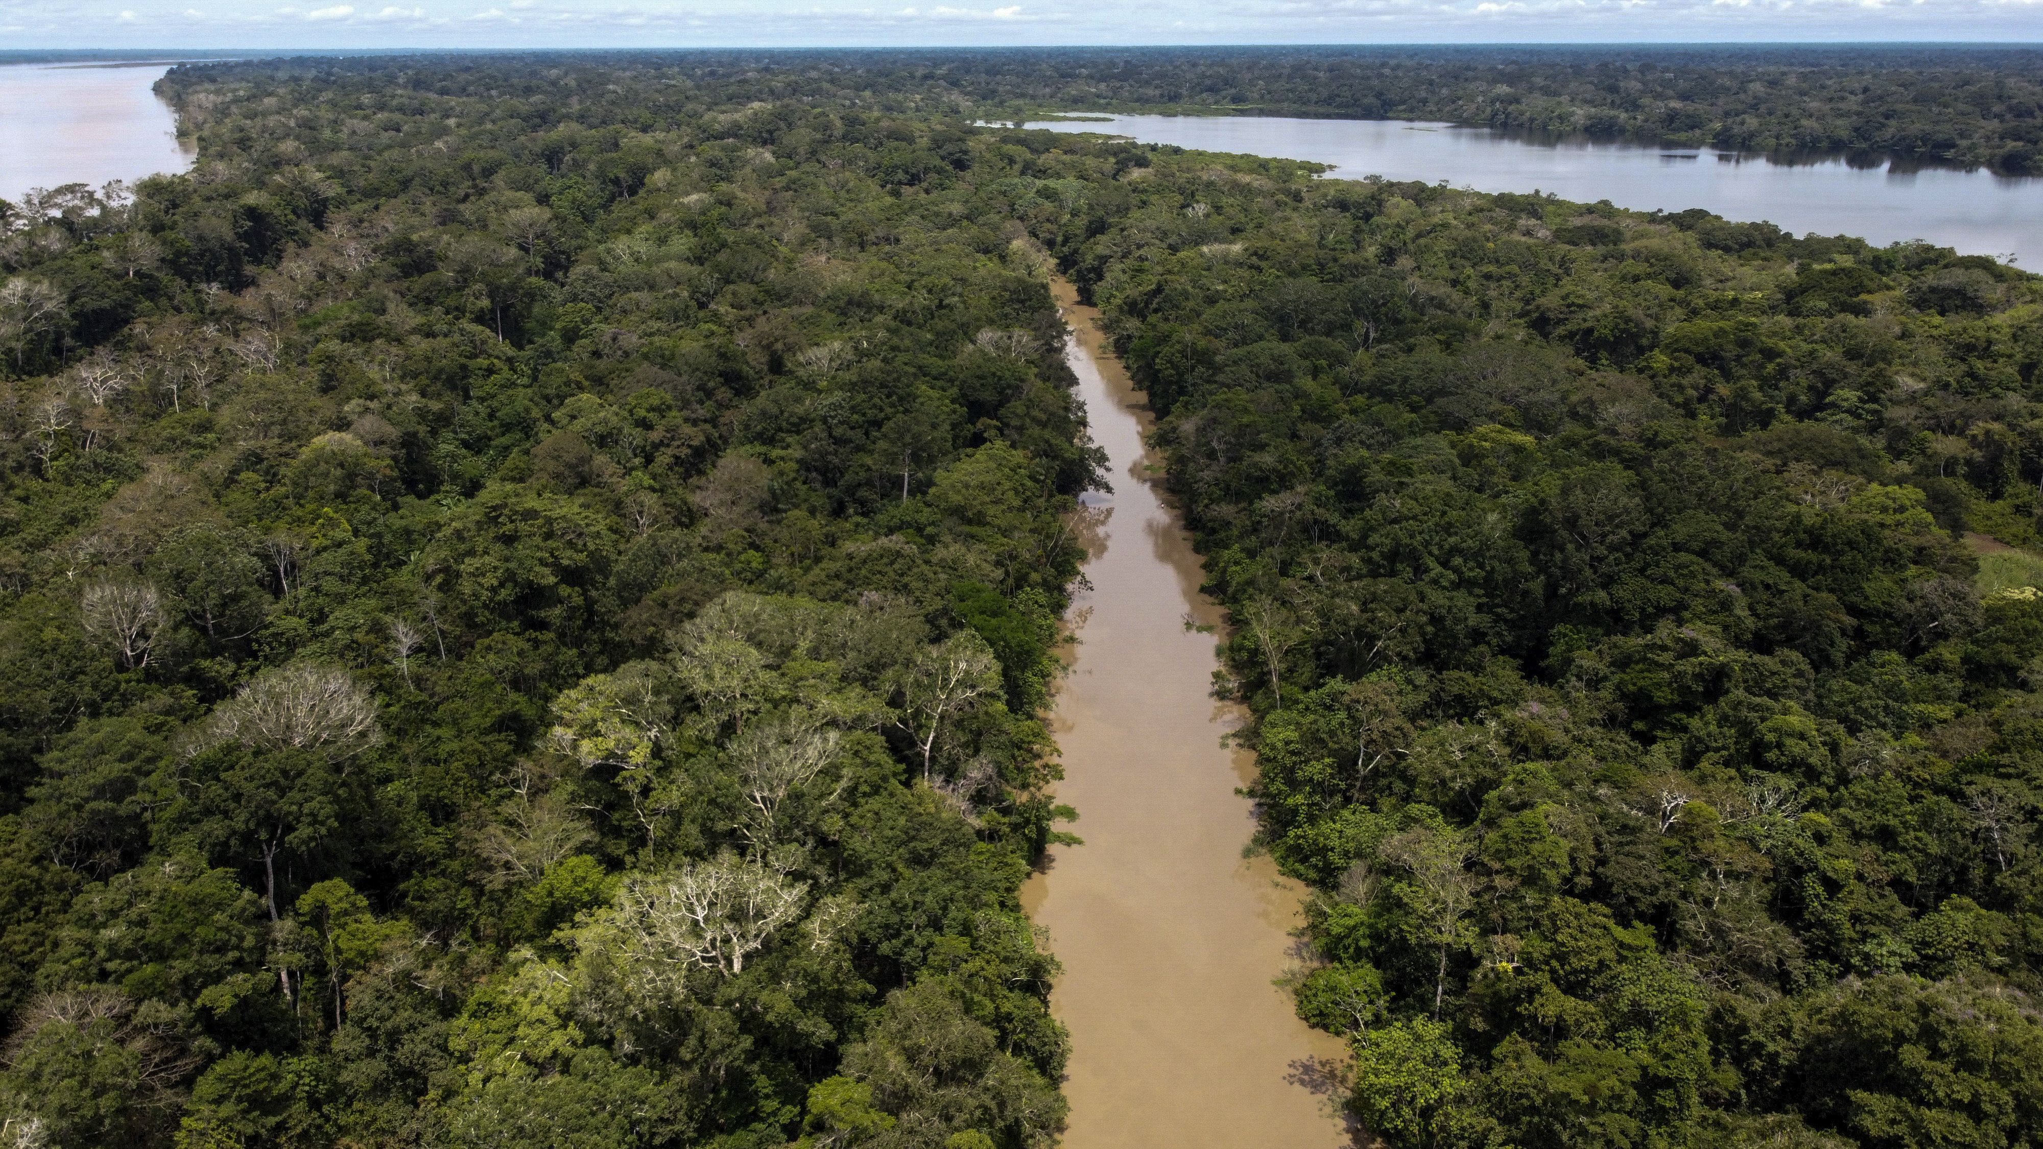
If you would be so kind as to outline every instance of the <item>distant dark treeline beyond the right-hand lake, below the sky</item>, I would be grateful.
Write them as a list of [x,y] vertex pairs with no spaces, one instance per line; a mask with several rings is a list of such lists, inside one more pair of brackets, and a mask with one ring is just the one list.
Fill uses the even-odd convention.
[[[478,57],[474,67],[503,67]],[[545,61],[543,55],[513,57]],[[1747,151],[1869,149],[2043,170],[2043,49],[1998,45],[1418,45],[576,53],[760,98],[838,74],[889,110],[1432,119]],[[413,61],[415,67],[419,61]],[[392,61],[402,65],[402,61]],[[441,57],[439,65],[445,65]]]

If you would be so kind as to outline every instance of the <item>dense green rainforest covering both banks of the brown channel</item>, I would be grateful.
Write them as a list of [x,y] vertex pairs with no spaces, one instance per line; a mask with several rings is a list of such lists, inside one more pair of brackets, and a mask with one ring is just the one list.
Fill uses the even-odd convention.
[[1034,241],[1377,1137],[2043,1139],[2043,286],[989,59],[184,67],[190,174],[6,206],[6,1137],[1048,1145]]

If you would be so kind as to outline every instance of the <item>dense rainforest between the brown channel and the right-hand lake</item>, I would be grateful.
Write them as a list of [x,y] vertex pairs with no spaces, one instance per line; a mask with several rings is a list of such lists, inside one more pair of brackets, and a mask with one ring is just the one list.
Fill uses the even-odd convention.
[[1044,241],[1160,415],[1369,1129],[2043,1139],[2043,282],[1146,157]]

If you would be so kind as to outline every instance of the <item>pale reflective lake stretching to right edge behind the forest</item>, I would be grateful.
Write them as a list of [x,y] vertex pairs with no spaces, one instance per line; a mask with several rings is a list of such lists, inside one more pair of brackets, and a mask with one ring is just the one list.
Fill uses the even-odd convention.
[[1330,164],[1359,180],[1446,180],[1479,192],[1555,192],[1628,209],[1714,211],[1794,233],[1929,239],[1967,256],[2014,258],[2043,272],[2043,180],[1880,157],[1796,157],[1614,141],[1536,141],[1483,127],[1277,117],[1101,117],[1046,121],[1050,131],[1105,131],[1142,143]]

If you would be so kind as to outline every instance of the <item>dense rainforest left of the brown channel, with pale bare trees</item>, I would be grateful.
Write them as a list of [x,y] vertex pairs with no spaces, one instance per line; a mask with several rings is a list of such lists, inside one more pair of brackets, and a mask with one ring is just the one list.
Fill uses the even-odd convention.
[[413,67],[8,204],[0,1141],[1048,1145],[1054,159]]

